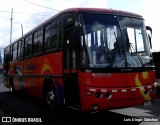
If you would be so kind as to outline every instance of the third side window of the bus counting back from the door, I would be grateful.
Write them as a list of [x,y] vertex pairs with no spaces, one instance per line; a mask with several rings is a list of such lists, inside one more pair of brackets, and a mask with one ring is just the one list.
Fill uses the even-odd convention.
[[25,53],[24,56],[28,57],[32,54],[32,35],[25,38]]

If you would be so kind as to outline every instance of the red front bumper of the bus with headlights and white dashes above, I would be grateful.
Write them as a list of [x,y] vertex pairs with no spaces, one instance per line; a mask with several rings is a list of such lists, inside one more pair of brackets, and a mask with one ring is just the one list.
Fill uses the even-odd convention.
[[80,95],[83,112],[111,110],[151,102],[156,96],[156,85],[132,88],[94,88],[80,85]]

